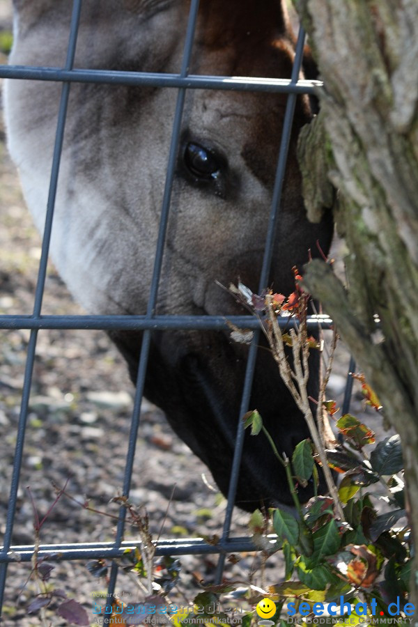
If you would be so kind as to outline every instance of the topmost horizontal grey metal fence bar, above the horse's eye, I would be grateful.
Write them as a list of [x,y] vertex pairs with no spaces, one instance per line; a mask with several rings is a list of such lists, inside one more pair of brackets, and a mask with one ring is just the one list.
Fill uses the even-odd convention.
[[118,70],[61,70],[40,68],[31,65],[1,65],[0,78],[95,83],[108,85],[130,85],[147,87],[183,87],[193,89],[220,89],[234,91],[270,91],[275,93],[315,93],[323,82],[302,79],[271,79],[247,76],[200,76],[178,74],[155,74],[153,72],[119,72]]

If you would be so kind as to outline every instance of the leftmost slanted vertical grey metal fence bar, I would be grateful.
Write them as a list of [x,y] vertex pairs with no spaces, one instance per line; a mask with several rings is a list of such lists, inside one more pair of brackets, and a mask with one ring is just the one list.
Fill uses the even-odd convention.
[[[72,4],[72,15],[70,22],[70,36],[68,39],[67,58],[65,60],[65,70],[71,70],[75,58],[75,49],[77,47],[77,35],[79,29],[79,18],[82,10],[82,0],[74,0]],[[63,148],[63,138],[65,131],[65,118],[67,116],[68,98],[70,95],[70,83],[64,83],[61,91],[61,101],[59,104],[58,121],[56,125],[56,136],[54,144],[54,154],[52,157],[52,171],[49,183],[49,192],[47,200],[47,211],[45,215],[45,229],[42,238],[42,251],[40,256],[38,281],[36,284],[35,302],[33,305],[33,317],[40,316],[42,308],[42,297],[45,288],[45,279],[47,275],[47,263],[49,253],[49,243],[51,240],[52,217],[54,215],[54,206],[56,199],[56,188],[58,185],[59,165],[61,162],[61,153]],[[29,397],[31,394],[31,383],[33,374],[33,364],[35,361],[36,340],[38,339],[38,330],[31,331],[29,339],[28,352],[26,356],[26,366],[24,372],[24,385],[22,392],[22,402],[20,405],[20,417],[17,426],[17,440],[15,447],[15,460],[13,463],[13,473],[10,483],[10,496],[8,500],[8,511],[6,517],[6,533],[4,534],[3,552],[6,555],[10,550],[10,544],[13,534],[13,524],[15,520],[17,490],[19,488],[20,470],[22,467],[24,436],[26,432],[26,420],[29,408]],[[3,605],[4,587],[6,584],[7,562],[0,564],[0,609]]]

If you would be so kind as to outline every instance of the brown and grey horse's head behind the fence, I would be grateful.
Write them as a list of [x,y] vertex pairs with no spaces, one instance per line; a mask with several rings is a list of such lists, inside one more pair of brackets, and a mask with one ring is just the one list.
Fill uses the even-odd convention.
[[[189,2],[85,0],[75,67],[178,72]],[[63,66],[71,3],[15,0],[10,63]],[[278,0],[203,0],[190,72],[290,77],[293,39]],[[42,229],[61,86],[9,81],[6,123],[28,206]],[[176,90],[73,84],[51,254],[76,299],[94,314],[144,314],[153,268]],[[236,314],[223,291],[241,281],[256,291],[286,99],[281,95],[187,93],[173,189],[159,314]],[[293,291],[293,265],[327,251],[330,219],[307,221],[295,160],[299,128],[311,118],[307,98],[296,109],[277,247],[275,291]],[[190,144],[210,155],[202,176]],[[209,151],[209,152],[208,152]],[[203,153],[201,153],[202,155]],[[198,155],[199,157],[199,155]],[[211,170],[212,172],[212,170]],[[267,286],[266,286],[267,287]],[[137,371],[141,335],[113,339]],[[153,337],[146,396],[228,489],[247,347],[215,332],[159,332]],[[318,393],[318,359],[310,393]],[[251,408],[277,449],[291,455],[307,428],[259,350]],[[284,473],[263,435],[246,435],[237,504],[291,503]],[[302,500],[311,495],[308,486]]]

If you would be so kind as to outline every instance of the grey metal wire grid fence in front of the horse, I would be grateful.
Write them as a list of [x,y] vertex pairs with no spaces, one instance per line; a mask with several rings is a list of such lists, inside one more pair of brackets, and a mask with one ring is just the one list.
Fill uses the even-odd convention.
[[[83,330],[141,330],[144,332],[141,345],[141,355],[139,357],[139,370],[137,376],[137,387],[134,399],[134,409],[132,412],[132,422],[130,427],[130,438],[125,465],[125,479],[123,482],[123,493],[130,492],[132,468],[134,465],[135,446],[139,429],[139,417],[141,408],[141,398],[144,392],[144,381],[148,355],[150,350],[151,334],[154,330],[176,330],[176,329],[211,329],[225,330],[228,328],[223,316],[158,316],[154,314],[158,297],[158,285],[162,272],[162,256],[164,251],[164,241],[167,232],[169,218],[169,208],[171,199],[171,189],[176,167],[176,155],[180,141],[180,129],[182,123],[183,107],[185,95],[190,89],[215,89],[215,90],[238,90],[238,91],[264,91],[270,93],[288,94],[284,126],[279,146],[279,159],[277,163],[277,173],[272,194],[270,209],[270,229],[265,242],[265,253],[263,267],[259,279],[260,290],[268,284],[268,273],[274,246],[274,225],[280,215],[281,190],[284,181],[284,171],[291,137],[293,114],[295,102],[298,94],[314,93],[314,88],[320,87],[320,82],[301,80],[300,68],[304,48],[304,32],[300,29],[297,38],[297,47],[291,79],[260,79],[258,77],[215,77],[203,75],[189,75],[189,67],[192,48],[194,42],[194,31],[196,27],[196,16],[199,9],[199,0],[192,0],[187,32],[185,35],[185,45],[183,63],[178,75],[175,74],[152,74],[147,72],[116,72],[109,70],[84,70],[73,68],[75,50],[77,45],[77,29],[79,27],[80,11],[82,0],[75,0],[72,8],[72,20],[70,24],[70,36],[68,41],[68,53],[65,65],[61,69],[39,68],[39,67],[17,67],[2,66],[0,77],[8,79],[33,79],[38,81],[54,81],[62,83],[61,102],[59,107],[59,117],[56,127],[56,139],[54,147],[54,157],[52,162],[52,173],[50,178],[49,196],[47,201],[47,217],[45,231],[42,240],[42,254],[39,264],[38,282],[36,286],[35,302],[33,314],[31,316],[0,316],[0,328],[3,330],[27,329],[30,330],[30,339],[27,349],[26,369],[24,373],[24,386],[22,392],[22,403],[20,409],[20,419],[17,426],[17,442],[15,449],[15,462],[10,485],[10,497],[8,502],[8,513],[6,520],[6,533],[4,534],[3,547],[0,550],[0,607],[3,600],[3,590],[6,582],[8,564],[17,559],[29,562],[33,555],[33,546],[13,546],[12,532],[17,504],[17,490],[20,480],[20,470],[22,466],[22,456],[24,451],[24,438],[26,424],[28,421],[29,396],[31,392],[31,382],[33,378],[33,364],[36,355],[36,342],[39,330],[52,329],[83,329]],[[52,223],[54,217],[54,202],[56,198],[56,188],[59,178],[59,166],[61,151],[63,148],[63,137],[65,131],[65,118],[68,108],[68,98],[72,82],[102,83],[109,85],[123,84],[131,86],[153,86],[155,88],[170,87],[176,89],[177,102],[176,111],[173,118],[173,130],[171,135],[171,146],[167,165],[167,178],[164,187],[164,199],[160,216],[160,230],[158,234],[157,247],[155,250],[155,263],[153,269],[153,279],[148,299],[148,309],[142,316],[43,316],[42,315],[42,295],[45,288],[45,277],[47,274],[47,258],[49,251],[49,241],[51,238]],[[222,538],[216,545],[209,545],[202,539],[183,540],[169,539],[157,542],[156,555],[185,555],[207,553],[219,554],[219,564],[217,578],[220,580],[224,568],[224,559],[229,552],[254,550],[251,540],[248,538],[231,537],[231,516],[235,497],[235,489],[238,481],[238,469],[242,454],[243,428],[240,416],[249,409],[249,395],[251,392],[251,381],[254,375],[256,362],[256,351],[258,345],[258,322],[251,316],[229,316],[229,320],[238,327],[254,329],[254,339],[249,348],[247,359],[247,371],[245,376],[244,390],[240,407],[240,415],[237,416],[237,438],[233,467],[229,486],[228,506],[224,518]],[[323,329],[332,326],[332,320],[323,317],[320,321]],[[312,317],[309,320],[310,327],[316,327],[318,320]],[[354,369],[353,362],[350,370]],[[343,411],[348,410],[350,402],[349,384],[346,390]],[[124,507],[121,507],[116,530],[116,537],[113,542],[108,543],[71,543],[59,545],[42,545],[39,557],[47,555],[49,552],[59,552],[61,559],[98,559],[120,557],[123,551],[130,547],[132,542],[123,541],[125,529]],[[116,585],[118,567],[113,562],[109,582],[109,594],[113,593]]]

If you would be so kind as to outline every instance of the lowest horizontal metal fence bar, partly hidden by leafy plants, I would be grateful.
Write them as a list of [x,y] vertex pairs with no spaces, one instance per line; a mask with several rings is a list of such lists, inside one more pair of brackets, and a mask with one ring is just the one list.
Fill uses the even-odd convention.
[[[275,534],[266,536],[266,539],[273,545],[277,541]],[[126,540],[120,546],[115,546],[111,542],[98,543],[71,543],[71,544],[41,544],[38,550],[38,557],[47,557],[54,554],[54,559],[65,561],[70,559],[99,559],[122,557],[126,550],[134,550],[141,545],[141,541],[136,543]],[[260,550],[249,538],[238,537],[229,538],[227,541],[219,541],[217,544],[209,544],[203,538],[162,540],[155,543],[155,555],[208,555],[223,552],[256,552]],[[0,562],[16,563],[30,562],[35,551],[34,545],[19,545],[10,547],[6,555],[1,553]]]

